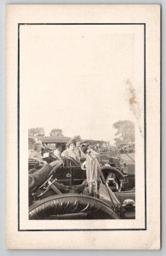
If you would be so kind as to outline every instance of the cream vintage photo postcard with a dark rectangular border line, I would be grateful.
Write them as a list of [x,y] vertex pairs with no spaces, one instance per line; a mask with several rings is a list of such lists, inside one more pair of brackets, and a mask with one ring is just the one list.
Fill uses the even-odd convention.
[[160,9],[6,6],[9,249],[160,249]]

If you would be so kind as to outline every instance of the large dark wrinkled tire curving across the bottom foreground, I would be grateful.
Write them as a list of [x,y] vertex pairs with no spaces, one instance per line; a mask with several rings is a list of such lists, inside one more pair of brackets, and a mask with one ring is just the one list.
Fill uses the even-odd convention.
[[30,219],[116,219],[117,213],[88,195],[53,195],[31,205]]

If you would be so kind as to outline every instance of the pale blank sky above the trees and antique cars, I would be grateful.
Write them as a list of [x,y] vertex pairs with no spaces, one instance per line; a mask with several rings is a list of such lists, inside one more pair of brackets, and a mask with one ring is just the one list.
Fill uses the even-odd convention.
[[[136,26],[21,26],[20,108],[46,135],[111,140],[118,120],[135,122],[127,81],[141,67]],[[140,32],[140,30],[139,30]],[[140,59],[139,59],[140,58]],[[138,63],[137,63],[138,62]]]

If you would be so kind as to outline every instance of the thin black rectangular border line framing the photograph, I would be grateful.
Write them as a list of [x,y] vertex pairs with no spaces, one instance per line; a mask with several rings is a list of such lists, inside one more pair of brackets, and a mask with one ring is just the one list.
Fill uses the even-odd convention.
[[[21,230],[20,229],[20,26],[103,26],[103,25],[143,25],[144,26],[144,147],[145,147],[145,228],[143,229],[68,229],[68,230]],[[18,23],[18,93],[17,93],[17,118],[18,118],[18,231],[139,231],[147,230],[146,224],[146,23]]]

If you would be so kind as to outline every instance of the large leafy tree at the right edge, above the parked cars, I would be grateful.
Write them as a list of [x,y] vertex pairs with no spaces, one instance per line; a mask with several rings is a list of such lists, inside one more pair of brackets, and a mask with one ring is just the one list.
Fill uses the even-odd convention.
[[116,139],[120,139],[122,143],[135,142],[135,124],[129,120],[118,121],[114,123],[113,128],[117,130]]

